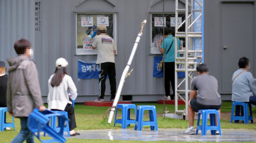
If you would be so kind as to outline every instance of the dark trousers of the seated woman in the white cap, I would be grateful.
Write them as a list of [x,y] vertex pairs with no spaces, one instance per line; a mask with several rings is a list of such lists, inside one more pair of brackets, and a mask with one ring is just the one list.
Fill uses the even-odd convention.
[[[71,98],[69,98],[69,101],[72,102]],[[52,109],[53,111],[60,111],[58,109]],[[76,118],[75,118],[75,110],[73,108],[72,104],[67,103],[66,108],[64,111],[67,112],[67,116],[69,118],[69,131],[72,131],[76,128]]]

